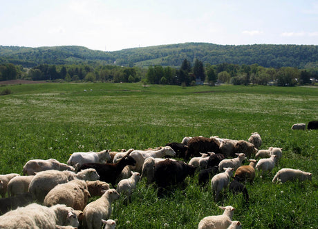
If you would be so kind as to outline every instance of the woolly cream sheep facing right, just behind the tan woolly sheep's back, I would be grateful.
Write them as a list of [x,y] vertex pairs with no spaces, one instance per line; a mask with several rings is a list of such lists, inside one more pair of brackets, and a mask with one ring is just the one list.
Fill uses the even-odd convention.
[[84,179],[95,181],[99,179],[100,176],[97,174],[96,170],[93,168],[88,168],[82,170],[75,174],[71,171],[58,171],[58,170],[46,170],[37,173],[32,179],[29,192],[32,194],[33,199],[43,203],[44,198],[53,189],[60,183],[66,183],[73,179]]

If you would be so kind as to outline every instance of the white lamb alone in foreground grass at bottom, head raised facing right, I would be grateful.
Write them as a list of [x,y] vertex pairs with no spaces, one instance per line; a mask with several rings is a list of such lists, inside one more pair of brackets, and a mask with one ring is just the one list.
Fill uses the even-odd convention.
[[198,229],[227,229],[231,226],[235,208],[232,206],[218,208],[224,210],[223,214],[204,217],[198,224]]

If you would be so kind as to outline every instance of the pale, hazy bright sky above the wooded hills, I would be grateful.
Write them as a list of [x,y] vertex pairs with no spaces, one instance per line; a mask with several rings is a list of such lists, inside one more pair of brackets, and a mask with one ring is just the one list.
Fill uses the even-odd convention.
[[318,0],[0,0],[0,46],[318,45]]

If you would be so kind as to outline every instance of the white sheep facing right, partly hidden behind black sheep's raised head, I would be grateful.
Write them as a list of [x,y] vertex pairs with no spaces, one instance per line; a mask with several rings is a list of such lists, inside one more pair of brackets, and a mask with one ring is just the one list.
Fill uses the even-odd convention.
[[[153,158],[162,158],[165,156],[175,157],[176,152],[174,152],[174,150],[170,146],[165,146],[160,148],[159,150],[133,150],[130,153],[130,156],[136,161],[135,166],[131,166],[131,170],[141,173],[144,160],[147,159],[148,157],[153,157]],[[120,153],[115,155],[113,163],[116,163],[119,157],[120,157]]]

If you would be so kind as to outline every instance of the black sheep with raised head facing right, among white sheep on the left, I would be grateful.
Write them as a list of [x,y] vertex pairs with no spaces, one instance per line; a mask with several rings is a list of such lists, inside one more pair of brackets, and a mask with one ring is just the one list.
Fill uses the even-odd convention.
[[79,170],[85,168],[95,168],[97,173],[100,175],[100,180],[111,183],[113,187],[115,186],[116,180],[118,176],[122,172],[125,166],[134,166],[135,159],[129,156],[131,152],[127,152],[127,154],[120,159],[117,163],[85,163],[84,165],[79,167]]

